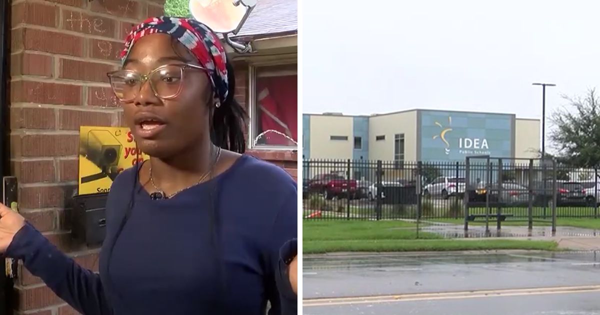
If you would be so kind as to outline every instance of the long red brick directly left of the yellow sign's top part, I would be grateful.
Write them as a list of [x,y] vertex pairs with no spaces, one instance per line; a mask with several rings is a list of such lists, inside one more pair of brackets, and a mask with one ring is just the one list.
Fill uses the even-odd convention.
[[10,140],[13,157],[65,157],[79,152],[76,134],[13,134]]

